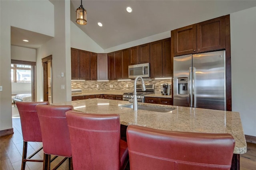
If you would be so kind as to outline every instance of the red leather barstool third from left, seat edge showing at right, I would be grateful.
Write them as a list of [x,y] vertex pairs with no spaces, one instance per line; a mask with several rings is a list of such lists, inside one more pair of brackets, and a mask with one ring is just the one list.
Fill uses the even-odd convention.
[[67,111],[74,170],[123,170],[129,160],[118,114]]

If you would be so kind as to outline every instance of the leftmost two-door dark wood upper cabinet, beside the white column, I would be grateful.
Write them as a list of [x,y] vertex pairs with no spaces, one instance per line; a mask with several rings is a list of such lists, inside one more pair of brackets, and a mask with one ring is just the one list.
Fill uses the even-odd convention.
[[97,80],[97,54],[71,48],[71,79]]

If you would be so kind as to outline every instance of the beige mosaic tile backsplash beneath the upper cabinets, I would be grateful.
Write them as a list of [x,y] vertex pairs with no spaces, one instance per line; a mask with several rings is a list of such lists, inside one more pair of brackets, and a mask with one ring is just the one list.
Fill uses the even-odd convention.
[[[161,92],[160,85],[163,83],[172,84],[172,79],[155,80],[155,79],[143,79],[145,84],[155,84],[155,93]],[[138,80],[137,84],[140,83]],[[117,81],[111,80],[108,82],[99,81],[71,81],[72,89],[85,90],[133,90],[134,80]]]

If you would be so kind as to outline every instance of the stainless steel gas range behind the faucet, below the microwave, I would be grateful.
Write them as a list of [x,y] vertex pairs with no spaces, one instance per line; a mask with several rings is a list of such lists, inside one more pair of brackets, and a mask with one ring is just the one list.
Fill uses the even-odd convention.
[[[154,84],[145,84],[145,85],[146,85],[146,91],[142,91],[141,85],[136,85],[138,102],[144,103],[144,96],[146,94],[154,94]],[[129,101],[130,99],[132,99],[133,94],[134,92],[125,92],[123,94],[123,100]]]

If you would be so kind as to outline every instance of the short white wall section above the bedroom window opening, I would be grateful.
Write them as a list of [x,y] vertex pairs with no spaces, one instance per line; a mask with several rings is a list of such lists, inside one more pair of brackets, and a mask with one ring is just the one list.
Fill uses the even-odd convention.
[[36,62],[36,50],[11,45],[11,59]]

